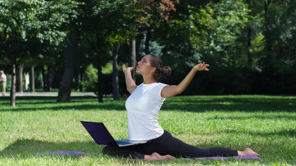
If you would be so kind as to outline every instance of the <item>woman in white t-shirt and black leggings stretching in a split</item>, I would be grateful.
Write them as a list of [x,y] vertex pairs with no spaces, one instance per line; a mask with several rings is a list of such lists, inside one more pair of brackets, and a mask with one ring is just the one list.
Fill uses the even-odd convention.
[[128,139],[145,140],[146,143],[125,147],[108,145],[103,153],[112,156],[131,156],[144,160],[161,160],[175,157],[236,156],[257,154],[250,148],[244,151],[224,147],[198,148],[173,137],[158,123],[158,113],[167,97],[182,93],[197,71],[209,69],[209,64],[195,65],[179,85],[158,83],[161,76],[171,74],[171,67],[163,66],[160,57],[145,55],[137,62],[136,72],[143,76],[143,83],[136,85],[130,71],[133,67],[122,66],[127,90],[131,93],[126,99]]

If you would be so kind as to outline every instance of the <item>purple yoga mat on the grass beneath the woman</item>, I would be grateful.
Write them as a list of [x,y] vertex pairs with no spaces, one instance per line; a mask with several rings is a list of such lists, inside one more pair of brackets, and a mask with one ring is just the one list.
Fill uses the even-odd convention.
[[[102,155],[102,153],[87,153],[81,151],[48,151],[48,152],[37,152],[35,155],[72,155],[72,156],[79,156],[79,155]],[[227,159],[227,158],[237,158],[237,159],[260,159],[260,157],[256,154],[252,155],[243,155],[243,156],[233,156],[233,157],[198,157],[195,159]],[[193,159],[193,158],[185,158],[185,159]]]

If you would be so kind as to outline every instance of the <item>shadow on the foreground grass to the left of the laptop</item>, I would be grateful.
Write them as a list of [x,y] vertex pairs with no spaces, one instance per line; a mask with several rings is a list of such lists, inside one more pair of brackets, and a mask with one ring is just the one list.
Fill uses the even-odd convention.
[[74,141],[74,142],[48,142],[34,139],[15,140],[8,147],[0,151],[0,156],[4,157],[21,157],[35,155],[37,152],[48,151],[82,151],[89,153],[100,153],[105,145],[98,145],[94,141]]

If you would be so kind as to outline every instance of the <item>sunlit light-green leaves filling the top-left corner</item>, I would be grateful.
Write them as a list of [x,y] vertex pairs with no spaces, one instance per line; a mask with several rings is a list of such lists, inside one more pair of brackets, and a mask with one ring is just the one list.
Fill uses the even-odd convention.
[[59,44],[66,36],[60,27],[76,18],[77,5],[74,0],[3,0],[0,2],[1,36],[5,40],[35,39]]

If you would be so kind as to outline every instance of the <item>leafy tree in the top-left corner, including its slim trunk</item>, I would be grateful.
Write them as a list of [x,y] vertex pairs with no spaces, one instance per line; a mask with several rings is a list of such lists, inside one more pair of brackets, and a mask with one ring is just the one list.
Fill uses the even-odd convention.
[[15,106],[15,67],[29,56],[31,41],[58,44],[65,32],[60,27],[75,13],[74,0],[3,0],[0,2],[0,36],[2,53],[12,64],[11,105]]

